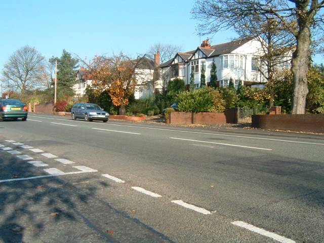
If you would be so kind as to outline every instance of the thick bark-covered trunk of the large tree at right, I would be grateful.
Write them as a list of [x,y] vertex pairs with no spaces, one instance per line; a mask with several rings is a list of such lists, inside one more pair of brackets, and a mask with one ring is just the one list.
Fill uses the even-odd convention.
[[292,71],[294,74],[294,96],[292,102],[293,114],[305,114],[307,87],[308,56],[310,31],[304,27],[297,37],[297,48],[293,54]]

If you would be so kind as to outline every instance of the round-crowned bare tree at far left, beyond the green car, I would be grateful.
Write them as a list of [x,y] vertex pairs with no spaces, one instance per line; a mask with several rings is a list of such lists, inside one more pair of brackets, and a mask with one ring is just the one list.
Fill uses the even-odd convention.
[[24,46],[14,52],[3,69],[3,79],[10,88],[24,95],[27,89],[43,86],[45,58],[36,49]]

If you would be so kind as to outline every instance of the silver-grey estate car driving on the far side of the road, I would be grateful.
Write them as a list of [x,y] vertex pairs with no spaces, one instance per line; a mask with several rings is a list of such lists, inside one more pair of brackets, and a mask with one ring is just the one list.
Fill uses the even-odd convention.
[[85,119],[86,121],[102,120],[104,123],[109,119],[109,113],[99,105],[91,103],[76,103],[71,108],[71,117]]

